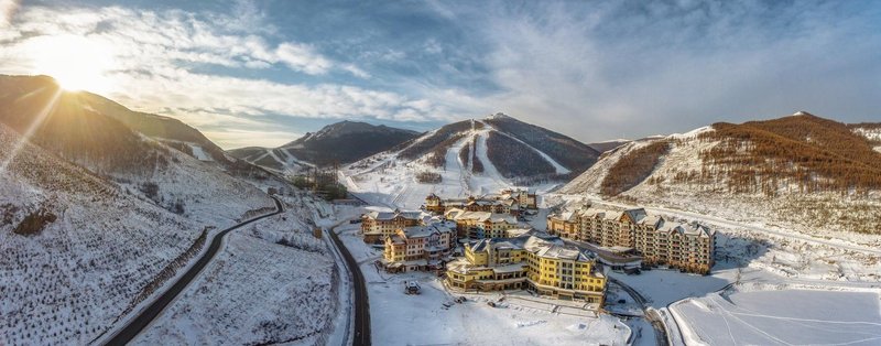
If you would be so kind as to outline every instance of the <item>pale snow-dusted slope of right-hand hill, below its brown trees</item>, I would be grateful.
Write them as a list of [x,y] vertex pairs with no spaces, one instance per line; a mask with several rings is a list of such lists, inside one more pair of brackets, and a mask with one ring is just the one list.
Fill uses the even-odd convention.
[[[588,195],[687,210],[757,226],[779,226],[823,237],[851,239],[851,231],[877,233],[881,229],[881,203],[878,191],[867,194],[805,192],[797,182],[779,176],[777,188],[736,192],[742,181],[728,175],[727,166],[705,162],[701,154],[719,148],[720,140],[700,128],[685,134],[637,141],[603,154],[599,162],[559,190],[562,194]],[[629,152],[654,141],[666,140],[670,150],[661,156],[650,175],[618,196],[601,196],[602,181],[609,169]],[[798,160],[793,158],[793,160]],[[766,182],[768,183],[768,182]],[[870,237],[871,238],[871,237]],[[878,239],[863,239],[877,241]]]

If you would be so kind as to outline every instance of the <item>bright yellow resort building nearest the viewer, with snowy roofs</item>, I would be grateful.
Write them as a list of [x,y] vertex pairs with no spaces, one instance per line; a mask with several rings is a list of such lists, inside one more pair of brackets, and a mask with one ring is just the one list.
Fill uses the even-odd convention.
[[583,250],[544,233],[466,245],[447,263],[446,283],[465,291],[532,290],[555,299],[603,303],[606,277]]

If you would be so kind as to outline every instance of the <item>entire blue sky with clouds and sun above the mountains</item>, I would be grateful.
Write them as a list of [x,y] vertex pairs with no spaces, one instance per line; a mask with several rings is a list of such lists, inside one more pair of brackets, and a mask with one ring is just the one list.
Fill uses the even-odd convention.
[[584,142],[798,110],[881,121],[881,2],[0,0],[0,74],[225,149],[496,112]]

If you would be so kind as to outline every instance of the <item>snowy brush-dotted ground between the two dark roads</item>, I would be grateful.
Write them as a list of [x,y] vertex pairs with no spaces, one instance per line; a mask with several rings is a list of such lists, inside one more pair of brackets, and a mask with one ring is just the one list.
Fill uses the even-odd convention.
[[237,230],[141,345],[326,340],[337,316],[334,260],[294,208]]

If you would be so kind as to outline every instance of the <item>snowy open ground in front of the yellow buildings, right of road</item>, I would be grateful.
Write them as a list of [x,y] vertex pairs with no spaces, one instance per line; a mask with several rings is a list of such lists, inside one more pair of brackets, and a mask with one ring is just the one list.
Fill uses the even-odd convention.
[[[596,316],[570,306],[577,305],[572,302],[514,294],[507,296],[507,307],[490,307],[487,302],[497,301],[501,294],[468,294],[467,302],[452,303],[454,295],[432,274],[378,270],[373,262],[381,251],[365,245],[356,235],[357,228],[344,224],[337,231],[361,262],[368,281],[373,343],[378,345],[626,345],[630,337],[630,328],[618,318]],[[404,294],[406,280],[417,280],[422,294]],[[444,303],[452,305],[445,307]]]

